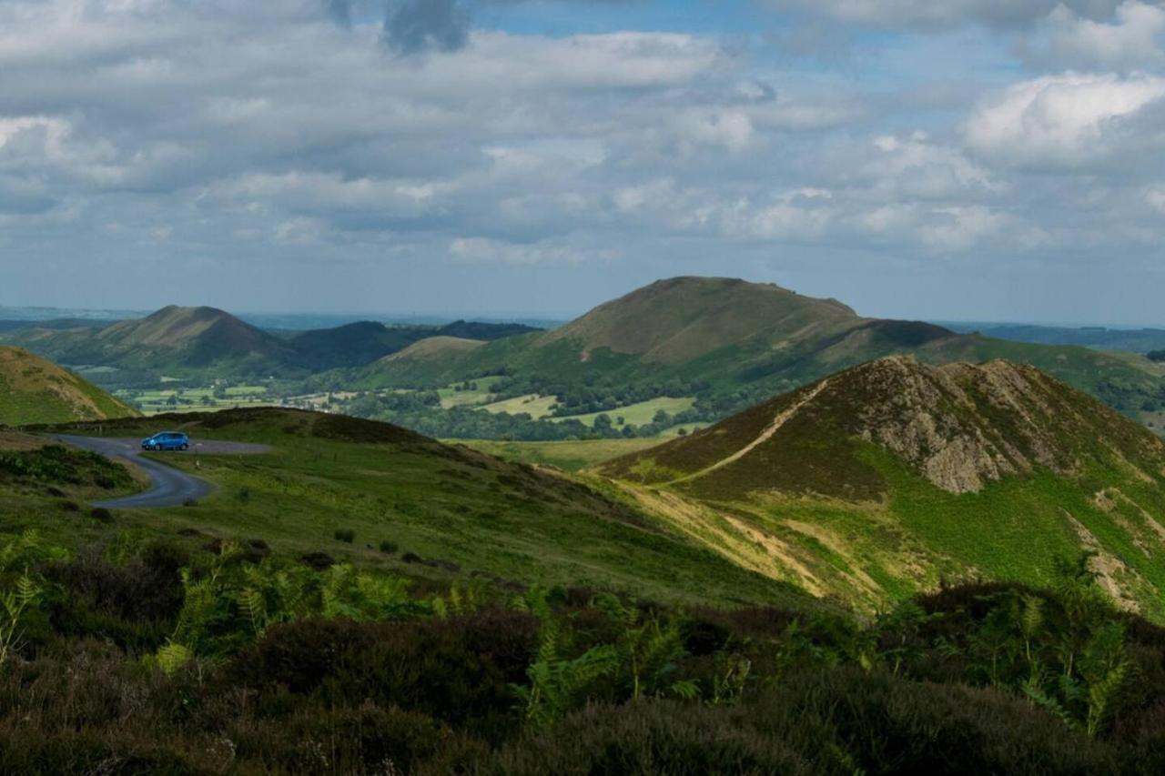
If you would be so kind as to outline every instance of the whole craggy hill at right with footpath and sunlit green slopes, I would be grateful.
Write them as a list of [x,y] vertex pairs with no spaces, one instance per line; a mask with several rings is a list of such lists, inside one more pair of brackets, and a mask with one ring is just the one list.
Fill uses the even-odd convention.
[[1046,584],[1092,550],[1114,599],[1165,618],[1165,443],[1026,365],[881,359],[596,473],[819,595]]

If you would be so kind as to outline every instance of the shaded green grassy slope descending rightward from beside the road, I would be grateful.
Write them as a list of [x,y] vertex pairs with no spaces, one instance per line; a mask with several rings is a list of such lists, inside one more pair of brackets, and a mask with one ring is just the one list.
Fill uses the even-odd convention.
[[[177,424],[190,416],[178,417]],[[661,600],[804,605],[786,585],[744,571],[665,525],[576,481],[395,430],[397,442],[332,438],[320,429],[394,429],[340,416],[241,410],[203,416],[204,438],[270,444],[249,457],[200,457],[198,474],[217,492],[195,507],[120,510],[121,530],[262,538],[291,555],[325,551],[372,567],[437,573],[401,558],[454,564],[523,584],[591,585]],[[246,418],[232,422],[231,418]],[[156,422],[106,435],[140,436]],[[318,425],[315,425],[318,424]],[[377,431],[379,432],[379,431]],[[360,431],[363,433],[363,431]],[[190,458],[167,457],[190,470]],[[40,505],[48,515],[45,505]],[[37,509],[2,510],[0,531],[45,523]],[[59,538],[68,541],[69,524]],[[352,530],[356,542],[334,541]],[[380,543],[400,546],[400,556]],[[634,564],[627,558],[634,557]]]

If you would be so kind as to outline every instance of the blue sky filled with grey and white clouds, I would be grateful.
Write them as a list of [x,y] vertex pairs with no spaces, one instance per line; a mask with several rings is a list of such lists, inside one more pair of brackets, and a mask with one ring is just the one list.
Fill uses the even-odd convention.
[[0,0],[0,305],[1165,325],[1165,6]]

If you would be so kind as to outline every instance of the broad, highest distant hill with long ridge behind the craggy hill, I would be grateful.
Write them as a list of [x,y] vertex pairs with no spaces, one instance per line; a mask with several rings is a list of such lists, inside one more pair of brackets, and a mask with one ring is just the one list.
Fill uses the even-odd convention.
[[864,318],[835,299],[719,277],[659,281],[549,332],[474,348],[450,345],[444,353],[382,359],[356,371],[351,382],[418,388],[506,374],[532,382],[531,391],[589,385],[599,386],[600,395],[603,386],[678,382],[706,407],[730,408],[873,359],[910,354],[930,364],[996,358],[1031,364],[1130,412],[1165,401],[1165,368],[1131,353]]

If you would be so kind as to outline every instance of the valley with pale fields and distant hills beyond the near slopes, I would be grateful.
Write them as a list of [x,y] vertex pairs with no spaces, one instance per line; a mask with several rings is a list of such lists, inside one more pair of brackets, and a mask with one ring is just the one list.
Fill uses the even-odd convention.
[[659,281],[551,331],[459,320],[267,332],[210,308],[72,323],[0,341],[70,365],[146,414],[299,407],[443,438],[658,438],[895,354],[1030,364],[1158,430],[1165,408],[1165,364],[1144,354],[864,318],[834,299],[729,278]]

